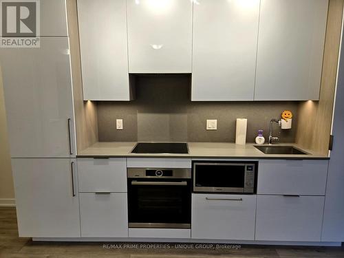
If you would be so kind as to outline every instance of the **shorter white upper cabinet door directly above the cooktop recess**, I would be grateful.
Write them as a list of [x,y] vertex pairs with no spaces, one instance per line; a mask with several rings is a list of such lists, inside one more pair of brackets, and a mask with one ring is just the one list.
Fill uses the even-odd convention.
[[127,14],[130,73],[191,73],[192,1],[127,0]]

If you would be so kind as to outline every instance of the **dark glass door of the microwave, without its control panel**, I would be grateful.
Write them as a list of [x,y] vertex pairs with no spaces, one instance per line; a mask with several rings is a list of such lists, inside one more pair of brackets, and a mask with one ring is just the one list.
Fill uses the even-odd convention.
[[246,165],[242,163],[195,162],[193,191],[244,193],[246,175]]

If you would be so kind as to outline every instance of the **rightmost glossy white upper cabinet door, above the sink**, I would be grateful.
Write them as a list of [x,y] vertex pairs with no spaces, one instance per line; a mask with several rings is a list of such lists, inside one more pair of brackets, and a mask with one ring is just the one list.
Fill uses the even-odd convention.
[[319,100],[327,0],[261,0],[255,100]]

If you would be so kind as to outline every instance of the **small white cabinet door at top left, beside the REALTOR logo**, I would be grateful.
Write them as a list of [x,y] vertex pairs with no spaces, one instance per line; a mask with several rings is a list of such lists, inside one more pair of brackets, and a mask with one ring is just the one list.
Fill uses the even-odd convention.
[[41,0],[41,36],[67,36],[66,0]]

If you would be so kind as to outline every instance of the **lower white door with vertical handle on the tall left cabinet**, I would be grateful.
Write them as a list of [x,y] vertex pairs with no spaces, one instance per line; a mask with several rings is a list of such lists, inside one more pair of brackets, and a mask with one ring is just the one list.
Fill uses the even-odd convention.
[[76,160],[12,158],[20,237],[80,237]]

